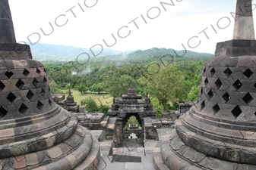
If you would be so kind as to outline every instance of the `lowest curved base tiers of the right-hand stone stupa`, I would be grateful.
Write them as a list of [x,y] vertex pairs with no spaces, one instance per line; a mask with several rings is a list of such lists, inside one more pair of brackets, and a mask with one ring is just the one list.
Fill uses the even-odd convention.
[[[191,134],[193,135],[193,134]],[[202,146],[204,147],[204,146]],[[234,155],[235,156],[235,155]],[[185,160],[185,161],[184,161]],[[156,145],[153,152],[153,162],[155,168],[158,169],[236,169],[236,170],[253,170],[255,165],[239,164],[235,162],[227,162],[221,159],[216,159],[207,154],[200,153],[185,145],[178,138],[175,129],[171,134],[166,134],[163,141]]]

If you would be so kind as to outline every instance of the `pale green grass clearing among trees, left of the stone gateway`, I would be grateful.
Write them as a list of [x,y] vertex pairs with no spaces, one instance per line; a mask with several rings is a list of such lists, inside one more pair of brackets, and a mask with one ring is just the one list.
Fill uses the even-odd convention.
[[[68,89],[61,89],[60,94],[65,94],[65,97],[68,97]],[[113,97],[111,94],[81,94],[81,92],[75,90],[71,90],[71,94],[77,104],[81,104],[81,100],[89,97],[92,97],[93,100],[96,101],[97,105],[103,104],[110,107],[113,103]]]

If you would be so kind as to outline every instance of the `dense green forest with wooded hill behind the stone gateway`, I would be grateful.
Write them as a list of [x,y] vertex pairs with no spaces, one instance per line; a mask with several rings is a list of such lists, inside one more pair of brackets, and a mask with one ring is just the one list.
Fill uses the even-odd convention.
[[[212,54],[176,51],[185,54],[177,57],[172,49],[151,48],[98,57],[97,60],[43,61],[51,82],[52,91],[74,88],[86,91],[109,92],[112,97],[126,94],[133,82],[137,94],[150,95],[158,112],[177,109],[180,102],[197,100],[201,71]],[[84,63],[84,64],[81,64]],[[89,102],[86,100],[85,102]],[[107,110],[106,106],[101,106]],[[90,110],[96,108],[93,106]]]

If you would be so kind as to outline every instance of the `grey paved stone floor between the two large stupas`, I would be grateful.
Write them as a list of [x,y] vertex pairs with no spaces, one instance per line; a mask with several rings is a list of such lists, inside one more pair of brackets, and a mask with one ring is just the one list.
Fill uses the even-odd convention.
[[[173,128],[160,128],[157,129],[158,137],[160,141],[169,131]],[[101,142],[101,156],[100,164],[97,170],[136,170],[136,169],[147,169],[155,170],[153,166],[153,149],[159,141],[146,141],[144,147],[141,144],[137,144],[136,140],[125,141],[125,146],[113,148],[113,154],[116,155],[127,155],[127,156],[140,156],[141,162],[112,162],[112,156],[109,156],[109,150],[112,144],[112,140],[106,140]]]

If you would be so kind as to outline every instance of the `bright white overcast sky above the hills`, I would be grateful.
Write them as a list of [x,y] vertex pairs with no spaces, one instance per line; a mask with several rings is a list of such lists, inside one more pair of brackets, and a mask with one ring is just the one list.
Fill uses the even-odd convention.
[[153,47],[182,50],[184,44],[188,50],[212,54],[216,42],[232,39],[234,19],[230,12],[235,12],[235,3],[235,0],[9,0],[17,42],[79,48],[102,45],[121,51]]

